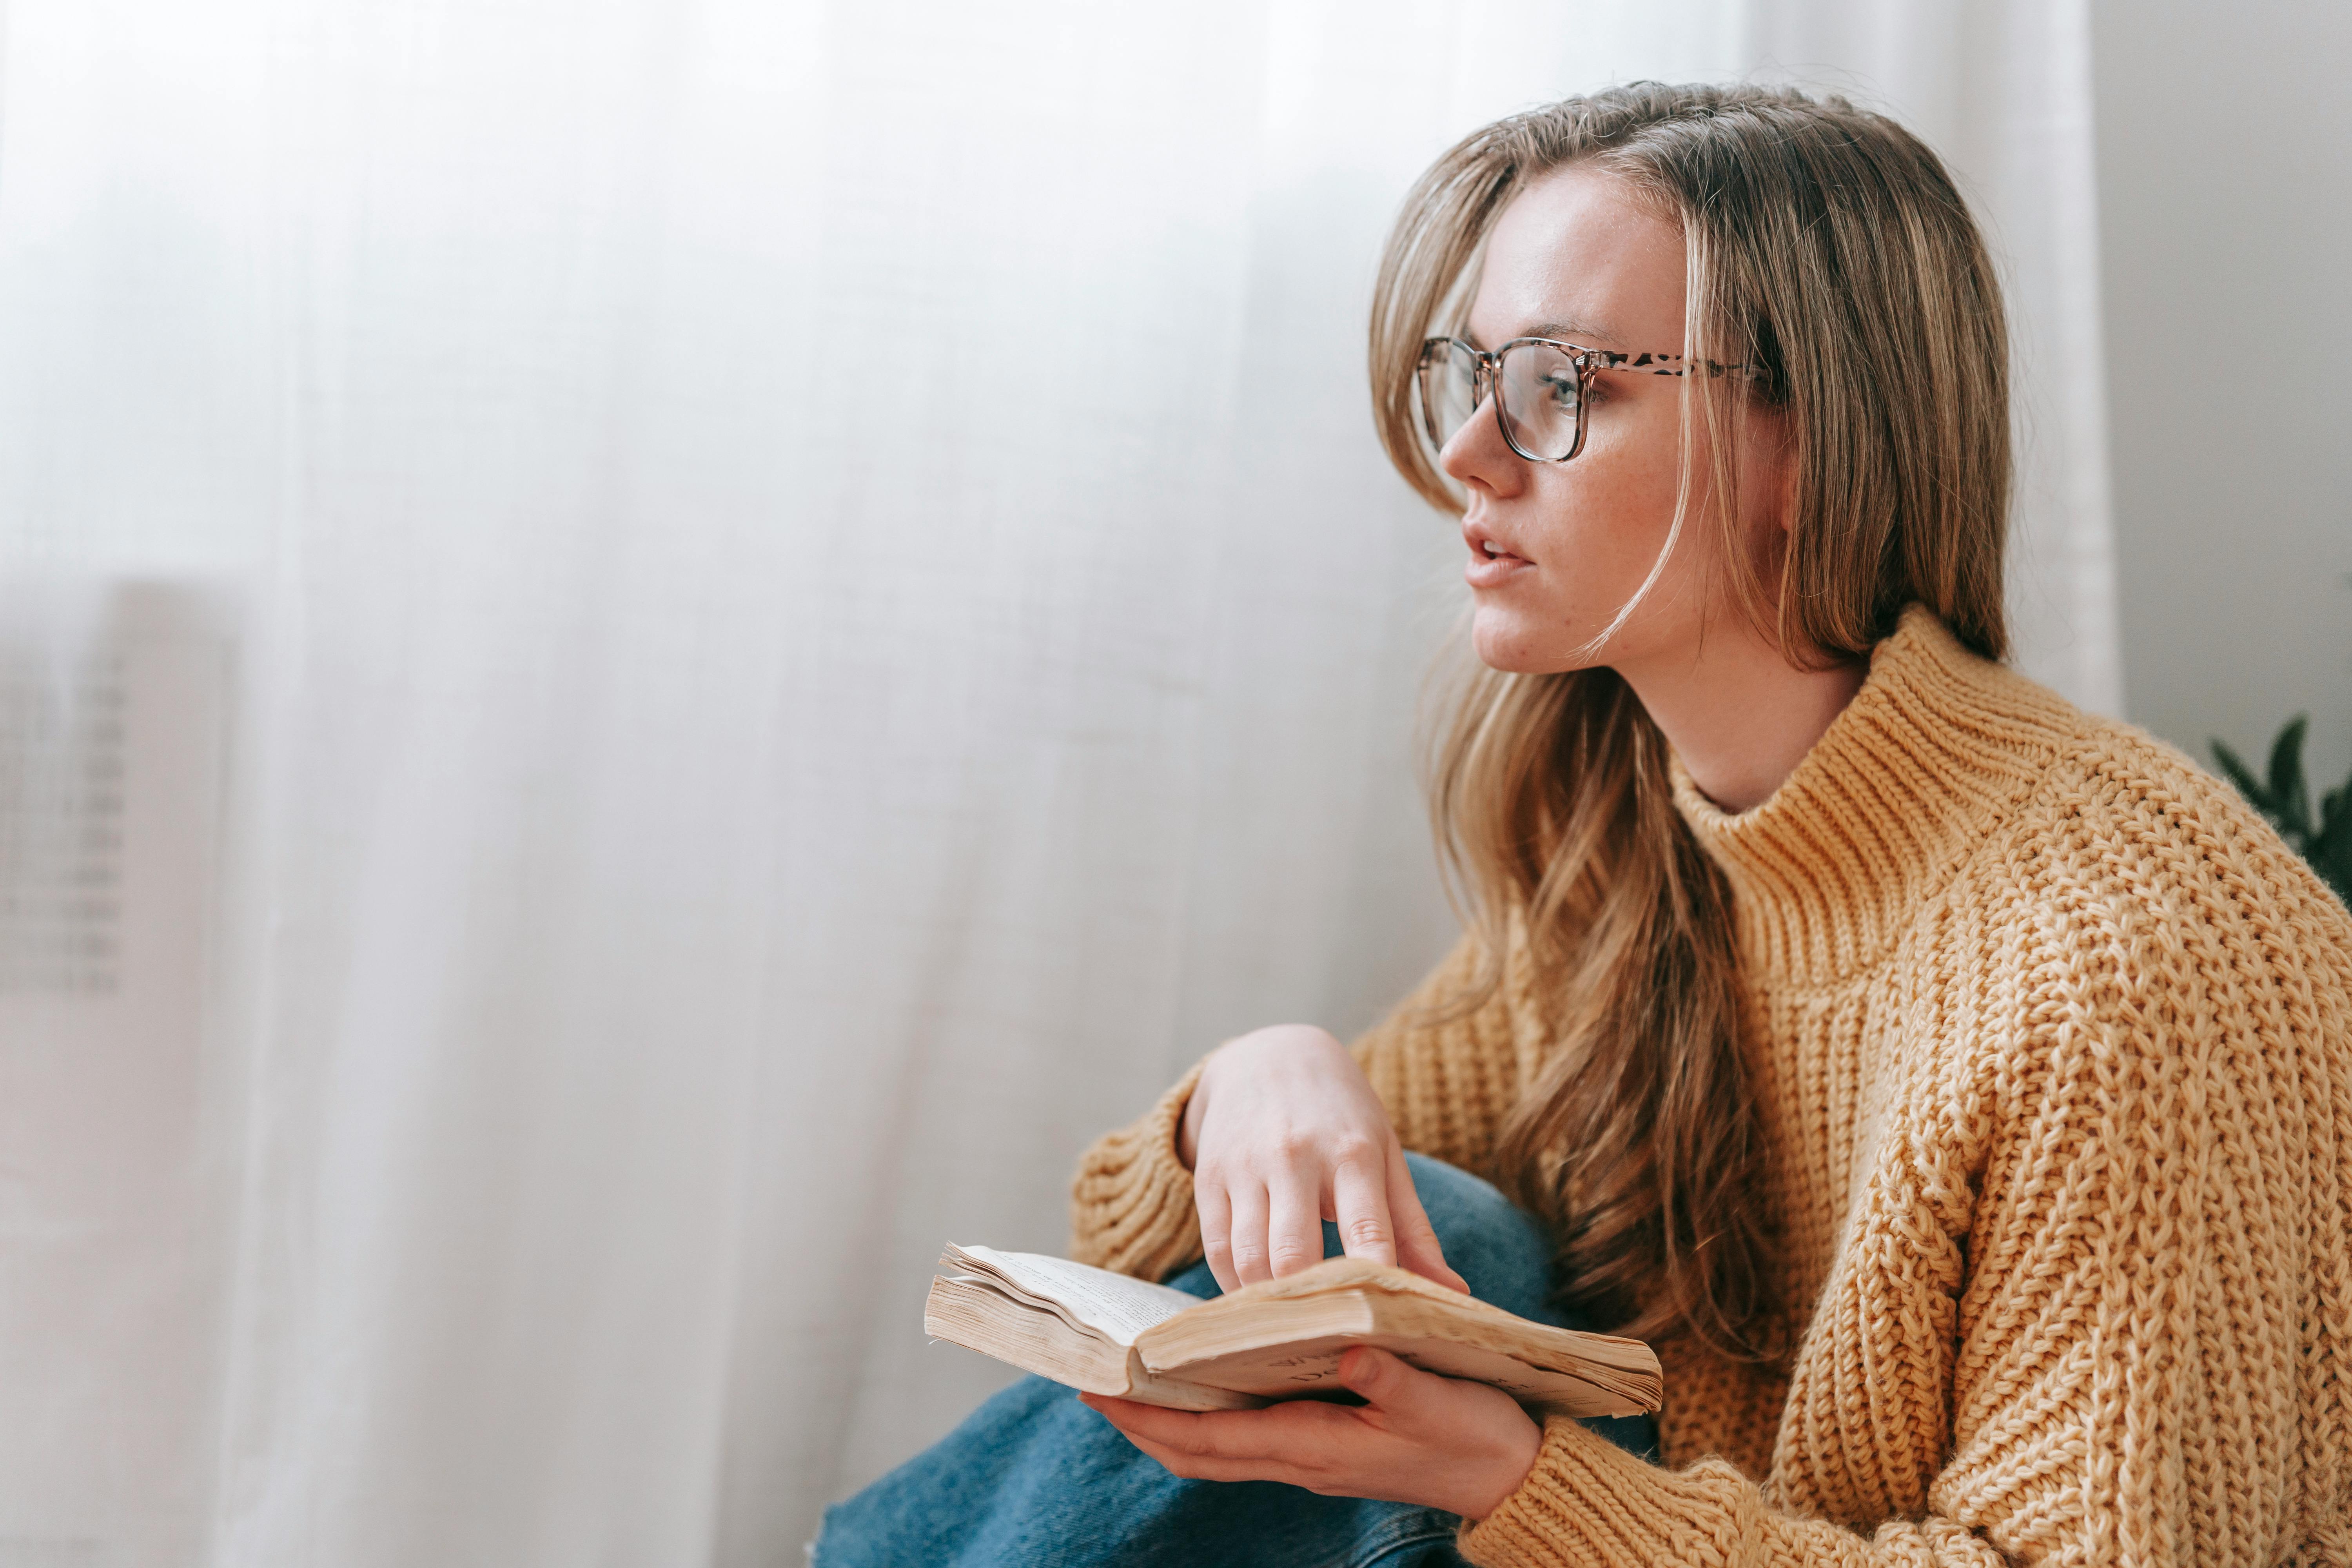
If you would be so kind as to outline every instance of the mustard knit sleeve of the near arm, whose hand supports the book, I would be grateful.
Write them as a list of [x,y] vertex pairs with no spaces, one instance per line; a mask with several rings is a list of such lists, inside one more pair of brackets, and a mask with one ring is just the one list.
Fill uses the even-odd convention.
[[[1851,1509],[1884,1523],[1863,1535],[1722,1460],[1670,1472],[1552,1420],[1463,1554],[2343,1561],[2352,922],[2300,867],[2263,870],[2305,896],[2190,879],[2171,910],[2091,889],[2053,912],[2023,1051],[1976,1056],[1971,1084],[1886,1131],[1837,1269],[1877,1272],[1898,1321],[1816,1319],[1778,1439],[1917,1476]],[[1884,1403],[1820,1399],[1820,1359],[1867,1368]],[[1922,1408],[1943,1425],[1898,1415]]]

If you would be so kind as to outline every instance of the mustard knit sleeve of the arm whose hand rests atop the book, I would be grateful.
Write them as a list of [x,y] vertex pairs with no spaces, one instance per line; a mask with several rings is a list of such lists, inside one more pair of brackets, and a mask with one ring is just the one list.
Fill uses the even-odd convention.
[[[1517,1088],[1524,1020],[1515,997],[1524,964],[1463,1009],[1479,980],[1479,947],[1463,938],[1435,971],[1350,1046],[1409,1150],[1484,1168],[1496,1126]],[[1080,1262],[1164,1279],[1200,1258],[1192,1173],[1176,1157],[1200,1065],[1138,1121],[1108,1133],[1077,1164],[1070,1190],[1070,1255]]]

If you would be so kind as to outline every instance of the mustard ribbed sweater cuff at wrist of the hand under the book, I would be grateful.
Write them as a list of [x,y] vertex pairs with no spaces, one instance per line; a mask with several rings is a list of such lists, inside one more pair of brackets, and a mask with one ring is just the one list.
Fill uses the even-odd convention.
[[1519,1490],[1465,1523],[1458,1547],[1477,1568],[1719,1563],[1757,1502],[1722,1460],[1661,1469],[1555,1415]]

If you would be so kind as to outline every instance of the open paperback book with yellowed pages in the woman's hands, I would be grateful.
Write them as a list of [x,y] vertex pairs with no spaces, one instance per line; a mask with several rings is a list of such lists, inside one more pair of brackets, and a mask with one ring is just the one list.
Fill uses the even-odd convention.
[[1176,1410],[1341,1394],[1338,1359],[1378,1345],[1446,1378],[1491,1382],[1562,1415],[1656,1410],[1665,1380],[1639,1340],[1548,1328],[1418,1274],[1327,1258],[1200,1300],[1068,1258],[948,1246],[922,1328],[997,1361]]

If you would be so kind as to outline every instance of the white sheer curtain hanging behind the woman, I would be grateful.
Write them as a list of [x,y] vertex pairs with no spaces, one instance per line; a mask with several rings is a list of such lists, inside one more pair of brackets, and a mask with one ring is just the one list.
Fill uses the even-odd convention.
[[943,1237],[1442,947],[1406,181],[1797,78],[2013,284],[2114,708],[2079,2],[9,0],[0,1568],[781,1563]]

